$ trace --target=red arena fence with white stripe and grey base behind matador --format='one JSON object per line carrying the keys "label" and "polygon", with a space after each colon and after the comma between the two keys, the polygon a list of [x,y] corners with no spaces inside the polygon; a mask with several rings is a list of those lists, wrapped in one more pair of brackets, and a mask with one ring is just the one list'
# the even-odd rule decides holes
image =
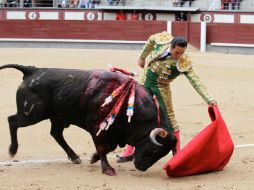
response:
{"label": "red arena fence with white stripe and grey base behind matador", "polygon": [[[102,48],[139,49],[150,35],[168,31],[173,36],[186,37],[202,51],[204,46],[208,51],[223,47],[220,51],[225,53],[232,53],[232,48],[233,53],[250,54],[254,50],[253,24],[206,23],[203,35],[200,22],[0,20],[0,25],[1,46],[27,42],[24,47],[29,43],[44,43],[46,47],[59,47],[64,43],[64,47],[68,47],[72,43],[81,48],[97,48],[100,44]],[[202,36],[205,36],[203,47]]]}

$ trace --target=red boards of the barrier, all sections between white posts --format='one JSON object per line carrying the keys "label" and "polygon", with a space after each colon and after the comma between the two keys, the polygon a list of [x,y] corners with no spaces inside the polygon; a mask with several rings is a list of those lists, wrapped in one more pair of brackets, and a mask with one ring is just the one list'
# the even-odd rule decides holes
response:
{"label": "red boards of the barrier, all sections between white posts", "polygon": [[[145,41],[166,31],[165,21],[0,20],[0,38]],[[173,22],[172,34],[200,46],[200,23]],[[207,44],[254,44],[254,24],[207,24]]]}

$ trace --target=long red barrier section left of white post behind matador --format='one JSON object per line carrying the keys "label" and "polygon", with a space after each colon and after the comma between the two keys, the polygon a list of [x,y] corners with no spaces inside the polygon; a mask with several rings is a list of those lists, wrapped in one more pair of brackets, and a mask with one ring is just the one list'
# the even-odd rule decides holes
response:
{"label": "long red barrier section left of white post behind matador", "polygon": [[0,38],[146,40],[164,21],[0,20]]}

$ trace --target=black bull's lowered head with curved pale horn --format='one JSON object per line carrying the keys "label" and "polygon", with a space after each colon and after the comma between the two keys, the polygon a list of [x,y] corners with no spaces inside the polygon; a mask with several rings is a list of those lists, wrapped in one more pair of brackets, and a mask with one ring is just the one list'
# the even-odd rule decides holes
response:
{"label": "black bull's lowered head with curved pale horn", "polygon": [[156,128],[150,133],[150,138],[135,146],[135,167],[146,171],[155,162],[166,156],[176,145],[174,133]]}

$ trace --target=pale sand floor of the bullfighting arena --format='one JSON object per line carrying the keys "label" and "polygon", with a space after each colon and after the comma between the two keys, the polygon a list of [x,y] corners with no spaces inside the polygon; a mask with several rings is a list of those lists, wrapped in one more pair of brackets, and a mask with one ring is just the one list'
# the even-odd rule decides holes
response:
{"label": "pale sand floor of the bullfighting arena", "polygon": [[[0,65],[23,64],[36,67],[107,69],[113,64],[127,70],[137,66],[139,51],[81,49],[1,49]],[[236,145],[254,144],[254,56],[200,53],[190,50],[195,70],[216,98],[221,114]],[[15,94],[22,74],[14,69],[0,71],[0,189],[1,190],[250,190],[254,187],[254,147],[236,148],[227,167],[216,173],[168,178],[163,165],[167,155],[147,172],[137,171],[133,163],[109,162],[117,176],[101,174],[100,163],[89,164],[94,145],[87,132],[75,126],[64,131],[69,145],[83,162],[74,165],[50,136],[50,123],[43,121],[19,129],[19,150],[9,158],[7,117],[16,113]],[[207,105],[184,76],[172,84],[174,108],[181,125],[182,146],[210,123]]]}

